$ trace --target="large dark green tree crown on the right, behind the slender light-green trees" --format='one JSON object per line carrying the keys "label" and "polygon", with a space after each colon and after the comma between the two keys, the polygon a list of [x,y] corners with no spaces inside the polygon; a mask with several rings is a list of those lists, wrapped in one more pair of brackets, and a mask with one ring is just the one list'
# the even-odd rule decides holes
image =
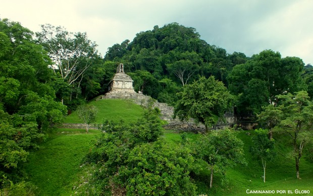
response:
{"label": "large dark green tree crown on the right, behind the slender light-green trees", "polygon": [[303,66],[300,58],[281,58],[279,52],[272,50],[236,65],[227,80],[229,90],[238,96],[238,111],[256,114],[262,107],[277,104],[275,96],[305,89],[300,77]]}

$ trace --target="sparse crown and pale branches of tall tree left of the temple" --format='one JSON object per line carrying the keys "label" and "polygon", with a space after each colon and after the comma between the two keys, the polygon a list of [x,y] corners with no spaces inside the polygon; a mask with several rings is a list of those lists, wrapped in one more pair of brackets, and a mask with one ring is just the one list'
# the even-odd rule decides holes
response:
{"label": "sparse crown and pale branches of tall tree left of the temple", "polygon": [[53,60],[54,72],[59,72],[69,85],[76,81],[80,83],[92,60],[98,57],[97,45],[87,38],[86,33],[74,34],[63,27],[47,24],[41,25],[41,32],[36,36]]}

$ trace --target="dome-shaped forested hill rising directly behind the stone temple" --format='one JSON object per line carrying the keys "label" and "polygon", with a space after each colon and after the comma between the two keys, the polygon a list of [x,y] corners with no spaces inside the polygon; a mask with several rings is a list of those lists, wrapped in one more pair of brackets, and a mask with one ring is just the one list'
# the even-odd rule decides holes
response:
{"label": "dome-shaped forested hill rising directly behind the stone temple", "polygon": [[132,42],[115,44],[105,55],[106,64],[125,64],[136,91],[172,105],[178,100],[176,93],[200,76],[215,76],[227,85],[232,68],[247,59],[240,52],[227,54],[201,40],[194,28],[177,23],[140,32]]}

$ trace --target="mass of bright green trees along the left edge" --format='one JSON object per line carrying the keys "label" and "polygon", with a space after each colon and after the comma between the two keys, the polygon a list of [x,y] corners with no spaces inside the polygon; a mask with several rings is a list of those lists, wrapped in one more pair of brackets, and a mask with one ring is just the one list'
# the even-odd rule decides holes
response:
{"label": "mass of bright green trees along the left edge", "polygon": [[32,36],[21,24],[0,19],[0,189],[8,189],[8,180],[22,183],[29,151],[66,113],[55,101],[51,60]]}

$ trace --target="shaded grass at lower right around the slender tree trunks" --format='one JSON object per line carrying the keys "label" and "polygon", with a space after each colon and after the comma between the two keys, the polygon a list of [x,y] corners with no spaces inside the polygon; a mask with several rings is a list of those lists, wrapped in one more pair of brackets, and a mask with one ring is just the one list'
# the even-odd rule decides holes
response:
{"label": "shaded grass at lower right around the slender tree trunks", "polygon": [[[249,152],[252,145],[251,136],[253,131],[249,131],[250,136],[246,133],[247,131],[240,131],[238,137],[245,144],[244,151],[247,166],[238,165],[235,168],[229,168],[225,177],[216,174],[213,179],[212,189],[208,188],[210,172],[203,167],[201,173],[195,176],[199,194],[247,195],[247,189],[275,190],[275,194],[277,194],[277,190],[285,190],[286,193],[290,190],[295,194],[295,189],[310,190],[310,193],[313,193],[313,164],[303,158],[300,161],[300,177],[302,179],[296,179],[294,159],[289,156],[291,148],[288,145],[286,146],[288,138],[282,135],[274,135],[274,138],[277,138],[278,154],[273,162],[267,163],[266,183],[264,183],[261,177],[263,176],[262,163],[254,160]],[[182,143],[181,134],[174,130],[167,130],[164,135],[165,140],[171,145]],[[201,134],[188,133],[186,136],[189,140],[194,141],[197,137],[201,137]],[[297,195],[309,194],[297,193]]]}

